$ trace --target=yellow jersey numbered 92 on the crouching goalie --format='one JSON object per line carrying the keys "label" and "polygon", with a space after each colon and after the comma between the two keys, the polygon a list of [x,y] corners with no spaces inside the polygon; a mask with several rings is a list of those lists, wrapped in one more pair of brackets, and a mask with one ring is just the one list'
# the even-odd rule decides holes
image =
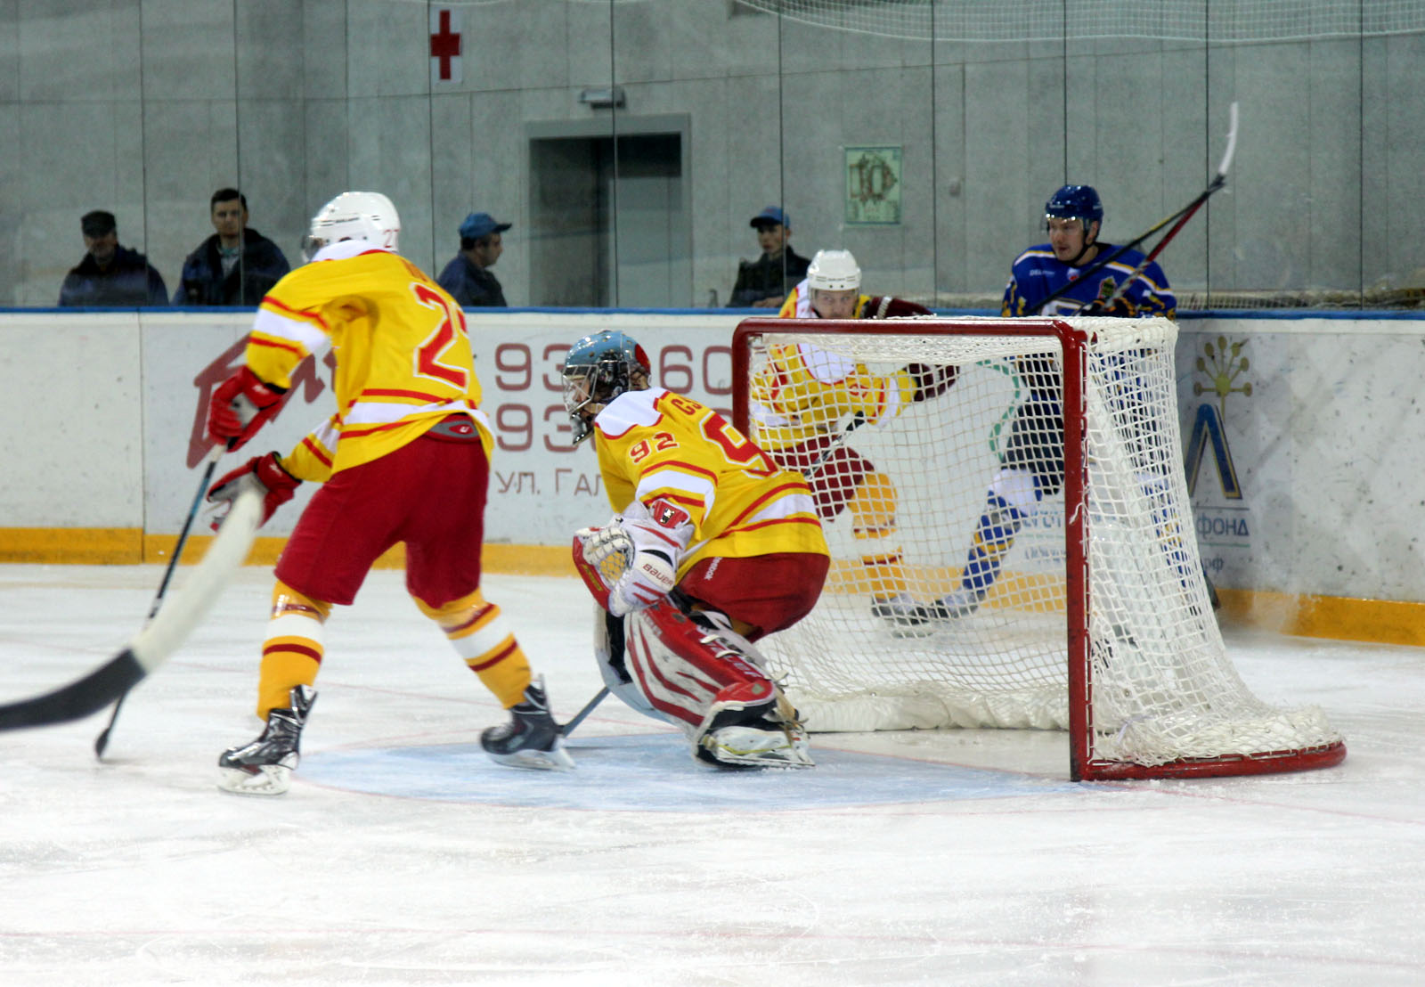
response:
{"label": "yellow jersey numbered 92 on the crouching goalie", "polygon": [[664,498],[688,512],[680,579],[707,558],[829,553],[801,474],[691,398],[664,388],[618,395],[594,419],[594,448],[614,511]]}

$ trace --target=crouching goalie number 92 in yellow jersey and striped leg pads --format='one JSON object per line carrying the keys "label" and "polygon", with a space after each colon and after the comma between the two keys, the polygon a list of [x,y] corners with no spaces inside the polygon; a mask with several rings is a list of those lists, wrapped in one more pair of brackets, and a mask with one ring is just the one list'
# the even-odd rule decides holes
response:
{"label": "crouching goalie number 92 in yellow jersey and striped leg pads", "polygon": [[574,536],[606,615],[596,655],[626,703],[678,725],[718,767],[807,767],[797,710],[752,642],[811,612],[829,566],[807,481],[720,414],[651,387],[623,332],[564,361],[574,442],[594,439],[617,512]]}

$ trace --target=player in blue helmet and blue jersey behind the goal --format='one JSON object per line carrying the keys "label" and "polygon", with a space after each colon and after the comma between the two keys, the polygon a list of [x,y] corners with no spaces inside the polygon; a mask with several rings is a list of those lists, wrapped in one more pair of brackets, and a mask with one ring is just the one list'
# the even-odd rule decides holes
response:
{"label": "player in blue helmet and blue jersey behind the goal", "polygon": [[[1102,260],[1117,250],[1099,242],[1103,203],[1089,185],[1064,185],[1045,204],[1049,242],[1030,247],[1015,258],[1005,287],[1002,315],[1117,315],[1174,318],[1177,300],[1156,262],[1137,271],[1144,255],[1124,251],[1110,264]],[[1100,267],[1094,270],[1094,262]],[[1124,285],[1120,291],[1120,285]],[[1020,361],[1019,374],[1029,394],[1015,412],[1000,468],[989,494],[970,551],[960,571],[960,585],[946,596],[916,608],[902,623],[953,620],[973,613],[999,576],[1000,563],[1025,518],[1042,499],[1063,486],[1063,406],[1059,372],[1045,359]]]}

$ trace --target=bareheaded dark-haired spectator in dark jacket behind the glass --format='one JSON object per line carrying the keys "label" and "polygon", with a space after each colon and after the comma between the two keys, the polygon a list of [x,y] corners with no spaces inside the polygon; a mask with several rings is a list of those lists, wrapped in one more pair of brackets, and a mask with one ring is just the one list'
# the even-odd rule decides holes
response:
{"label": "bareheaded dark-haired spectator in dark jacket behind the glass", "polygon": [[256,305],[291,267],[271,240],[248,225],[248,197],[219,188],[208,201],[215,234],[182,262],[175,305]]}

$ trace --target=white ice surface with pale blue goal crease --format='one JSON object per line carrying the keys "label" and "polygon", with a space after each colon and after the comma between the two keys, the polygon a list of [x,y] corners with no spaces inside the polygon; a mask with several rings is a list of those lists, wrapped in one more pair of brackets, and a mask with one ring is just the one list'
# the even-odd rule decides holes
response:
{"label": "white ice surface with pale blue goal crease", "polygon": [[[160,566],[0,566],[0,702],[138,629]],[[182,578],[180,572],[180,579]],[[328,625],[292,790],[254,737],[271,576],[107,722],[0,735],[0,986],[1425,984],[1425,650],[1228,633],[1342,766],[1073,784],[1060,733],[814,736],[724,774],[607,700],[579,770],[500,767],[503,710],[376,572]],[[560,719],[598,689],[573,579],[493,575]]]}

